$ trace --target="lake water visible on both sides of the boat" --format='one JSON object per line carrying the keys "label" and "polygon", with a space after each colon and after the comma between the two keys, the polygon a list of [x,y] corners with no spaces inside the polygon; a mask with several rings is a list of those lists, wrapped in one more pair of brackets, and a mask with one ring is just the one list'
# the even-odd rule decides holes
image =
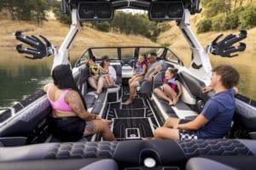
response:
{"label": "lake water visible on both sides of the boat", "polygon": [[[25,59],[15,49],[0,47],[0,107],[13,105],[50,82],[52,60],[53,56],[39,60]],[[216,57],[211,60],[212,65],[234,65],[241,73],[240,94],[256,100],[256,59],[253,56],[228,59],[228,62]]]}

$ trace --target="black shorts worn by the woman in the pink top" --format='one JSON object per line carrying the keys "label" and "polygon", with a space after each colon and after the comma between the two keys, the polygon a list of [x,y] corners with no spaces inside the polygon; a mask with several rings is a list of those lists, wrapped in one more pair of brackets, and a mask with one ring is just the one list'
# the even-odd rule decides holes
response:
{"label": "black shorts worn by the woman in the pink top", "polygon": [[86,122],[79,116],[50,117],[52,134],[61,141],[76,141],[84,136]]}

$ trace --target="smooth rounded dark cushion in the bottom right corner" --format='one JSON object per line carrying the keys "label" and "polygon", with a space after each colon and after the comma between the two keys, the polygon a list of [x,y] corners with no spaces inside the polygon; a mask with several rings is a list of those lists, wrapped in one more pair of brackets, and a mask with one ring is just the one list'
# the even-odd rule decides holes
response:
{"label": "smooth rounded dark cushion in the bottom right corner", "polygon": [[256,166],[256,156],[204,156],[191,158],[186,170],[253,170]]}

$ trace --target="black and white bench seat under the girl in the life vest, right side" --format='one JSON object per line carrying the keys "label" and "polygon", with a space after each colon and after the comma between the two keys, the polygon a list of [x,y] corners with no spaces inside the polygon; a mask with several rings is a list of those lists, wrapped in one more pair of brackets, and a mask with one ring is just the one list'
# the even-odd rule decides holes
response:
{"label": "black and white bench seat under the girl in the life vest, right side", "polygon": [[[162,85],[162,80],[165,76],[164,71],[160,71],[154,77],[153,88],[158,88]],[[160,108],[160,111],[167,117],[177,117],[181,119],[193,120],[198,113],[201,113],[207,99],[214,95],[213,92],[207,94],[202,93],[202,88],[205,87],[205,83],[201,82],[195,77],[189,75],[185,71],[177,73],[177,80],[182,85],[183,95],[177,102],[177,105],[170,106],[162,99],[159,99],[156,95],[153,96],[156,105]]]}

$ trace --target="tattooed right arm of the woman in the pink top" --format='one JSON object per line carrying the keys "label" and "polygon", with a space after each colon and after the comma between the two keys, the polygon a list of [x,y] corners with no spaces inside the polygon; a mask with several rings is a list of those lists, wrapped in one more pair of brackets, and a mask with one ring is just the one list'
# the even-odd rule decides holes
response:
{"label": "tattooed right arm of the woman in the pink top", "polygon": [[85,121],[100,119],[99,116],[93,115],[84,109],[83,102],[79,96],[79,93],[76,91],[69,91],[65,96],[65,101],[73,109],[73,112],[81,119],[84,119]]}

